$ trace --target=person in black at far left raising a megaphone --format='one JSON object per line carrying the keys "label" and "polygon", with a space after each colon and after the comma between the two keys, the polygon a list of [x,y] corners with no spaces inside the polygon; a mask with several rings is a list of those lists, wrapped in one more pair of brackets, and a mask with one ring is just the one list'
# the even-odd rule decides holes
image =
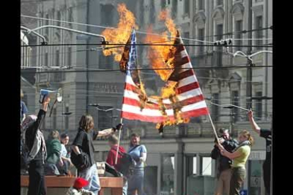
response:
{"label": "person in black at far left raising a megaphone", "polygon": [[28,195],[47,194],[44,177],[44,162],[47,151],[44,136],[42,131],[40,131],[40,125],[45,119],[49,102],[50,98],[45,98],[42,103],[42,108],[38,113],[38,117],[35,115],[29,115],[23,121],[23,126],[25,126],[25,147],[27,147],[29,151],[27,159],[29,166]]}

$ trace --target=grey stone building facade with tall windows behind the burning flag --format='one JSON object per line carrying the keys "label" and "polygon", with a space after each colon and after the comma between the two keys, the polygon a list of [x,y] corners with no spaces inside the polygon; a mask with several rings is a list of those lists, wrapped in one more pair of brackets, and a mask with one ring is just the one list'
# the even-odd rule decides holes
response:
{"label": "grey stone building facade with tall windows behind the burning flag", "polygon": [[[121,1],[41,1],[38,4],[38,17],[50,20],[38,20],[41,25],[59,25],[65,28],[100,33],[103,28],[77,25],[84,23],[100,26],[115,26],[119,16],[116,11]],[[248,1],[200,1],[200,0],[165,0],[165,1],[124,1],[127,8],[134,13],[139,31],[146,31],[153,25],[154,31],[165,30],[164,25],[156,19],[163,8],[171,11],[171,17],[180,29],[185,44],[200,45],[188,39],[215,42],[232,39],[232,45],[267,45],[272,40],[272,30],[260,30],[272,25],[272,1],[251,1],[252,25],[256,29],[252,33],[254,40],[247,40],[249,30]],[[73,23],[62,23],[64,20]],[[96,37],[79,35],[66,30],[43,28],[39,31],[47,37],[50,44],[96,44]],[[237,32],[237,33],[236,33]],[[239,33],[238,33],[239,32]],[[138,33],[139,34],[139,33]],[[138,35],[142,36],[142,35]],[[40,40],[38,40],[40,42]],[[98,47],[98,46],[97,46]],[[67,67],[36,73],[36,98],[40,88],[63,88],[64,101],[53,110],[52,117],[47,117],[44,129],[66,131],[71,139],[76,134],[81,114],[90,113],[95,119],[96,128],[105,129],[120,122],[120,112],[113,110],[104,112],[88,107],[98,103],[105,109],[119,109],[122,103],[124,75],[119,71],[113,57],[104,57],[102,50],[93,45],[66,45],[54,47],[38,47],[37,66]],[[139,47],[139,64],[149,67],[147,48]],[[270,128],[272,116],[272,54],[259,54],[253,57],[252,78],[248,76],[247,59],[232,57],[225,47],[187,47],[193,66],[214,66],[215,69],[195,69],[202,91],[210,102],[216,104],[233,104],[240,107],[251,105],[255,111],[258,124]],[[265,47],[230,47],[229,52],[242,51],[255,53],[260,50],[272,49]],[[234,68],[226,69],[225,67]],[[239,66],[239,67],[237,67]],[[222,67],[222,68],[221,68]],[[159,93],[162,85],[151,71],[142,72],[147,91]],[[252,88],[252,99],[248,95],[248,85]],[[226,127],[237,136],[242,129],[251,129],[246,119],[246,112],[230,110],[209,104],[209,110],[216,128]],[[38,108],[36,108],[38,110]],[[72,112],[62,115],[62,112]],[[206,117],[192,119],[189,124],[167,126],[163,137],[159,136],[155,124],[137,121],[123,122],[122,146],[128,147],[130,134],[136,132],[142,136],[142,143],[148,150],[146,160],[145,186],[148,194],[213,194],[215,182],[215,162],[210,158],[214,136],[212,126]],[[253,133],[255,146],[248,162],[248,177],[243,189],[251,195],[264,194],[261,164],[265,158],[265,141]],[[104,161],[109,150],[106,141],[95,141],[96,160]],[[156,179],[154,179],[156,178]]]}

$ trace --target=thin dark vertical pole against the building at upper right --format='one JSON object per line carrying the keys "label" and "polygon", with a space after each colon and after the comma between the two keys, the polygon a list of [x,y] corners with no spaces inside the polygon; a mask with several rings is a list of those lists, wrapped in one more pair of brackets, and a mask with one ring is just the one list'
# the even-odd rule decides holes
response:
{"label": "thin dark vertical pole against the building at upper right", "polygon": [[[252,0],[248,1],[248,45],[252,45]],[[251,47],[248,47],[247,55],[251,55]],[[246,72],[246,108],[252,107],[252,66],[251,59],[247,59]],[[247,119],[247,118],[246,118]]]}

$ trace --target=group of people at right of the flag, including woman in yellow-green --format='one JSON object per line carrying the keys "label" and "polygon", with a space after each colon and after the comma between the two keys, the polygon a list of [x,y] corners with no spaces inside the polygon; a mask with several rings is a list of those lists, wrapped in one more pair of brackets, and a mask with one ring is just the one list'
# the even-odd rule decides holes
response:
{"label": "group of people at right of the flag, including woman in yellow-green", "polygon": [[[272,131],[261,129],[253,119],[253,112],[248,112],[248,119],[252,129],[265,138],[266,157],[263,163],[263,181],[265,195],[270,195],[270,161],[272,148]],[[240,195],[246,178],[246,162],[251,153],[254,140],[249,131],[240,132],[238,141],[231,138],[228,129],[220,129],[221,137],[215,141],[211,157],[217,160],[217,188],[215,195]]]}

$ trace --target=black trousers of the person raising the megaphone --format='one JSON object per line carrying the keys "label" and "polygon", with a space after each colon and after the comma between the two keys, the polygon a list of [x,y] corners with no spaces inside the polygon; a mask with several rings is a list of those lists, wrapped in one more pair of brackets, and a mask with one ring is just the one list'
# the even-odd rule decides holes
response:
{"label": "black trousers of the person raising the megaphone", "polygon": [[28,168],[28,195],[46,195],[44,165],[42,160],[33,160]]}

